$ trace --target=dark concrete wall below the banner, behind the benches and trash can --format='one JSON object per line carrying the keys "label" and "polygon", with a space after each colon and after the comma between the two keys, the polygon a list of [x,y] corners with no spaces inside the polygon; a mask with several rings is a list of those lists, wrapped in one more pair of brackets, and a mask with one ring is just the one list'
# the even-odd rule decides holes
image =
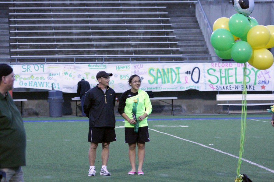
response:
{"label": "dark concrete wall below the banner, behind the benches and trash can", "polygon": [[[225,94],[228,92],[219,92]],[[229,92],[229,94],[241,94],[240,91]],[[271,91],[256,91],[248,93],[272,93]],[[176,96],[177,100],[174,100],[174,115],[206,115],[206,114],[226,114],[227,106],[217,106],[216,101],[217,91],[202,92],[194,89],[177,92],[153,92],[155,97],[170,97]],[[62,109],[63,116],[76,116],[76,103],[72,101],[72,97],[76,97],[76,93],[63,93],[64,103]],[[118,98],[121,93],[117,93]],[[48,91],[43,92],[14,92],[14,99],[28,99],[23,102],[23,115],[24,117],[48,117],[49,116],[49,104],[47,103]],[[171,103],[171,100],[165,100]],[[78,104],[80,102],[78,101]],[[152,100],[153,106],[152,115],[171,115],[171,106],[169,104]],[[118,103],[115,104],[115,115],[120,116],[118,113]],[[248,111],[266,111],[269,106],[248,106]],[[230,106],[230,111],[241,111],[241,106]],[[78,115],[81,115],[81,105],[77,106]],[[267,113],[267,112],[266,112]]]}

